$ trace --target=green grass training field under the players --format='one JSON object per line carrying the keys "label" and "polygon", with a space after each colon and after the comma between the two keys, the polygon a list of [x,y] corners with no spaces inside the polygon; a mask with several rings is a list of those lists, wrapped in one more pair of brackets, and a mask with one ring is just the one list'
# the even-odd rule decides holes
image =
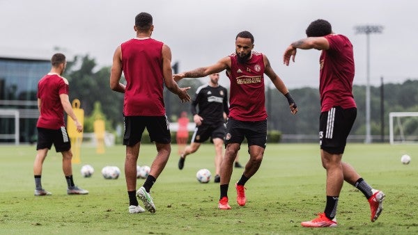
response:
{"label": "green grass training field under the players", "polygon": [[[247,147],[240,151],[240,162],[248,159]],[[116,165],[123,172],[125,148],[106,149],[96,154],[93,147],[82,147],[82,163],[73,165],[75,184],[88,195],[66,195],[61,170],[61,154],[49,152],[44,163],[42,186],[53,193],[33,196],[35,146],[0,147],[0,231],[1,234],[418,234],[418,145],[348,144],[343,160],[373,187],[385,192],[384,210],[370,222],[369,203],[353,186],[341,191],[336,228],[311,229],[300,226],[325,206],[325,170],[320,164],[318,145],[268,145],[263,164],[246,184],[247,205],[235,202],[233,183],[242,174],[234,169],[229,190],[232,209],[217,209],[219,184],[199,184],[200,168],[212,173],[214,150],[202,145],[187,157],[178,170],[173,145],[171,158],[151,192],[157,212],[131,215],[125,177],[103,179],[100,171]],[[409,154],[409,165],[401,155]],[[150,165],[154,145],[143,145],[139,165]],[[91,164],[95,173],[83,178],[80,168]],[[138,187],[144,179],[138,180]],[[141,204],[141,202],[140,202]]]}

